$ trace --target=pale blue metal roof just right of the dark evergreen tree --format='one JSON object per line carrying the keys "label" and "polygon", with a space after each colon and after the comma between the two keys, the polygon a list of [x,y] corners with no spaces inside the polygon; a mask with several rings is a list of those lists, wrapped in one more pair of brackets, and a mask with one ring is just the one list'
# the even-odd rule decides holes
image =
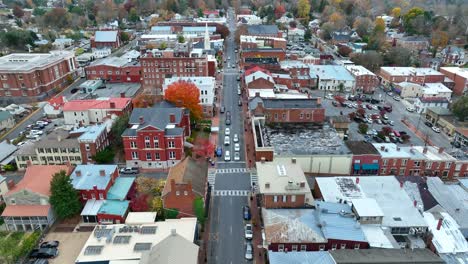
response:
{"label": "pale blue metal roof just right of the dark evergreen tree", "polygon": [[73,188],[76,190],[105,190],[117,171],[117,165],[78,165],[70,175]]}

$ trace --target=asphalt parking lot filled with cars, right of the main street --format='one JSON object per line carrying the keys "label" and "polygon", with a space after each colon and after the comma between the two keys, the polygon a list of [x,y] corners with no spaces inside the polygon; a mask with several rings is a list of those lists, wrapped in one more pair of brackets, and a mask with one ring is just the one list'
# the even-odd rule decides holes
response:
{"label": "asphalt parking lot filled with cars, right of the main street", "polygon": [[[327,94],[331,92],[329,91],[313,91],[314,96],[320,96],[320,97],[325,97]],[[345,94],[341,94],[340,96],[345,97]],[[452,146],[450,145],[450,139],[443,133],[436,133],[434,132],[430,127],[426,126],[425,123],[425,118],[424,114],[419,114],[416,112],[408,112],[406,110],[407,106],[405,105],[405,101],[396,101],[394,100],[391,96],[388,96],[383,90],[378,89],[374,95],[371,96],[374,99],[381,100],[381,103],[375,104],[375,105],[380,105],[384,106],[387,104],[392,105],[392,112],[387,112],[386,115],[388,117],[389,121],[393,121],[393,126],[390,126],[393,130],[395,131],[403,131],[406,132],[407,135],[410,136],[409,141],[404,142],[404,143],[398,143],[402,145],[424,145],[425,141],[427,142],[432,142],[435,146],[438,147],[444,147],[446,149],[451,148]],[[327,116],[337,116],[337,115],[348,115],[351,112],[356,112],[356,108],[349,108],[349,107],[342,107],[342,106],[334,106],[332,105],[332,102],[335,100],[331,99],[324,99],[323,100],[323,105],[326,109],[326,115]],[[349,102],[349,101],[347,101]],[[350,102],[350,103],[357,103],[357,102]],[[363,102],[362,105],[364,107],[365,113],[366,114],[376,114],[380,115],[380,110],[369,110],[366,108],[366,105],[370,104],[368,102]],[[382,118],[380,118],[383,120]],[[417,128],[420,133],[418,133],[420,136],[417,136],[413,131],[411,131],[401,120],[406,119],[408,120],[409,124],[412,124],[414,127]],[[368,130],[373,130],[375,129],[377,132],[382,130],[383,127],[389,126],[386,124],[378,124],[376,122],[373,122],[372,124],[367,123],[369,129]],[[348,139],[349,140],[365,140],[365,135],[359,133],[358,131],[358,126],[359,123],[352,121],[350,126],[349,126],[349,132],[348,132]],[[421,135],[424,135],[421,137]],[[368,137],[369,138],[369,137]],[[372,136],[370,137],[370,142],[375,143],[376,141],[372,139]]]}

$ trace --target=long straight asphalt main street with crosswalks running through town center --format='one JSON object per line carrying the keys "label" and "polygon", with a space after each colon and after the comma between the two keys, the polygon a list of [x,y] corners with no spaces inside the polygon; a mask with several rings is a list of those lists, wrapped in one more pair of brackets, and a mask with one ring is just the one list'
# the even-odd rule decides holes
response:
{"label": "long straight asphalt main street with crosswalks running through town center", "polygon": [[[240,96],[237,95],[237,54],[235,53],[235,28],[234,11],[229,10],[229,28],[231,35],[226,41],[225,58],[230,58],[224,69],[223,81],[223,105],[226,112],[231,113],[231,144],[223,146],[223,151],[229,150],[231,159],[234,157],[234,134],[239,136],[241,146],[240,161],[221,161],[216,165],[216,176],[213,198],[210,209],[210,239],[208,241],[208,263],[239,264],[250,263],[244,258],[244,220],[242,207],[248,203],[250,187],[250,174],[246,170],[244,155],[244,124],[241,117],[241,107],[238,106]],[[236,65],[233,69],[232,65]],[[243,102],[246,103],[246,102]],[[219,142],[224,142],[226,128],[226,113],[220,118]],[[224,158],[224,156],[223,156]],[[223,159],[224,160],[224,159]]]}

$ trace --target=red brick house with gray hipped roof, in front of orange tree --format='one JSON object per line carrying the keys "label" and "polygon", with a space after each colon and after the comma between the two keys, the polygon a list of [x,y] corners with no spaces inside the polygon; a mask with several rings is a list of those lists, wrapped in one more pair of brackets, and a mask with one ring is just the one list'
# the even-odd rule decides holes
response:
{"label": "red brick house with gray hipped roof, in front of orange tree", "polygon": [[185,137],[191,134],[188,110],[166,101],[135,108],[129,126],[122,134],[127,166],[168,168],[185,157]]}

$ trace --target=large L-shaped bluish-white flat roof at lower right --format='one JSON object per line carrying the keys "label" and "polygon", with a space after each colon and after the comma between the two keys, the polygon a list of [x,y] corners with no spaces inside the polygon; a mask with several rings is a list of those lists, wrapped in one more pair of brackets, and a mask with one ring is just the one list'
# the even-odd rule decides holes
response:
{"label": "large L-shaped bluish-white flat roof at lower right", "polygon": [[[359,183],[356,179],[359,178]],[[394,176],[317,177],[324,201],[373,198],[384,213],[382,225],[389,227],[427,227],[406,191]]]}

